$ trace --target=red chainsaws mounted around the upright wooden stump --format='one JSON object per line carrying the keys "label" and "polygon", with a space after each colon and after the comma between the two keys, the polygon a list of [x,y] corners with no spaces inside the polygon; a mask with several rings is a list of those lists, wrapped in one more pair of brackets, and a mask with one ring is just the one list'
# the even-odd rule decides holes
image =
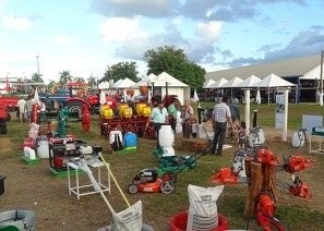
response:
{"label": "red chainsaws mounted around the upright wooden stump", "polygon": [[[267,148],[257,149],[255,151],[254,160],[267,166],[273,166],[277,171],[284,170],[292,174],[292,184],[277,180],[278,186],[288,190],[292,195],[301,198],[310,198],[312,196],[309,187],[298,177],[295,177],[293,173],[313,166],[313,160],[301,156],[289,156],[288,158],[284,158],[284,165],[279,166],[278,158]],[[241,161],[244,163],[244,158]],[[242,170],[244,170],[244,168]],[[221,168],[218,172],[211,177],[211,181],[216,184],[238,184],[250,182],[250,178],[241,175],[245,174],[240,174],[240,172],[233,171],[233,168]],[[256,221],[265,231],[272,231],[273,228],[279,231],[286,230],[279,220],[274,217],[276,205],[275,197],[271,193],[262,191],[261,195],[255,199],[255,210]],[[249,230],[249,223],[250,221],[247,224],[247,230]]]}

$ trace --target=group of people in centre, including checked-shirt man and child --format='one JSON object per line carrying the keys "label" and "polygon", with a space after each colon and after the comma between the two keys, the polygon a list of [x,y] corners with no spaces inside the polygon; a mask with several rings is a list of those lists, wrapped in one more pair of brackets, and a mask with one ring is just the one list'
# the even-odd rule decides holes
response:
{"label": "group of people in centre, including checked-shirt man and child", "polygon": [[[240,124],[233,123],[239,119],[239,113],[237,110],[230,110],[227,105],[228,97],[223,96],[221,102],[217,104],[213,110],[213,129],[214,137],[212,143],[212,155],[221,156],[223,147],[225,144],[225,137],[228,125],[232,127],[233,132],[238,135],[239,148],[243,149],[245,145],[245,123]],[[196,137],[197,123],[194,118],[194,110],[190,104],[190,100],[185,100],[184,107],[182,109],[179,99],[173,98],[172,104],[165,108],[161,100],[157,101],[157,106],[152,110],[151,120],[154,123],[155,131],[157,133],[157,148],[159,148],[158,143],[158,131],[161,125],[170,124],[176,133],[178,112],[181,112],[181,124],[183,138]],[[232,111],[232,112],[231,112]],[[148,127],[151,120],[147,121],[146,127]]]}

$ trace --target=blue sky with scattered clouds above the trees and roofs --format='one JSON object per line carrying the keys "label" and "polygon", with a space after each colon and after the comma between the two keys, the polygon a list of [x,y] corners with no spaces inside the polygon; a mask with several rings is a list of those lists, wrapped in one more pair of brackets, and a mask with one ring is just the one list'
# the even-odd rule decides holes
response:
{"label": "blue sky with scattered clouds above the trees and roofs", "polygon": [[320,53],[323,0],[0,0],[0,77],[103,76],[175,45],[206,71]]}

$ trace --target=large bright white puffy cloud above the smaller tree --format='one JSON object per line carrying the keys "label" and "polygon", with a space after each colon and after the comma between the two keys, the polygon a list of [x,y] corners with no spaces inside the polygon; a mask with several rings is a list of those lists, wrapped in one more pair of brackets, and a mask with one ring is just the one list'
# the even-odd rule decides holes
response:
{"label": "large bright white puffy cloud above the smaller tree", "polygon": [[139,19],[111,17],[100,26],[100,33],[106,41],[128,41],[132,38],[147,37],[140,29]]}

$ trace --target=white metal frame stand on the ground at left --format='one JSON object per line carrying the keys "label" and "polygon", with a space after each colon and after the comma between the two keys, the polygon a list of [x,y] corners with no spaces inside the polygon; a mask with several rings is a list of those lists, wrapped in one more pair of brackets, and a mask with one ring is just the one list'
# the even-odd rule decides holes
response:
{"label": "white metal frame stand on the ground at left", "polygon": [[[97,160],[97,161],[93,161],[93,162],[89,162],[87,165],[88,167],[91,167],[93,170],[94,169],[97,169],[97,182],[98,182],[98,185],[101,187],[101,191],[103,192],[109,192],[110,194],[110,174],[109,174],[109,171],[107,173],[107,184],[104,184],[101,182],[101,167],[105,167],[105,163]],[[107,166],[109,168],[109,163]],[[72,186],[71,184],[71,174],[70,174],[70,171],[74,171],[75,170],[75,186]],[[79,171],[82,171],[79,167],[77,163],[75,162],[69,162],[68,163],[68,183],[69,183],[69,194],[71,195],[72,193],[75,194],[77,196],[77,199],[80,199],[81,196],[85,196],[85,195],[89,195],[89,194],[95,194],[95,193],[99,193],[98,191],[95,191],[94,189],[94,185],[91,183],[91,184],[84,184],[84,185],[81,185],[80,184],[80,179],[79,179]],[[94,175],[95,178],[95,175]],[[87,190],[85,190],[87,189]],[[81,191],[86,191],[86,192],[81,192]]]}

